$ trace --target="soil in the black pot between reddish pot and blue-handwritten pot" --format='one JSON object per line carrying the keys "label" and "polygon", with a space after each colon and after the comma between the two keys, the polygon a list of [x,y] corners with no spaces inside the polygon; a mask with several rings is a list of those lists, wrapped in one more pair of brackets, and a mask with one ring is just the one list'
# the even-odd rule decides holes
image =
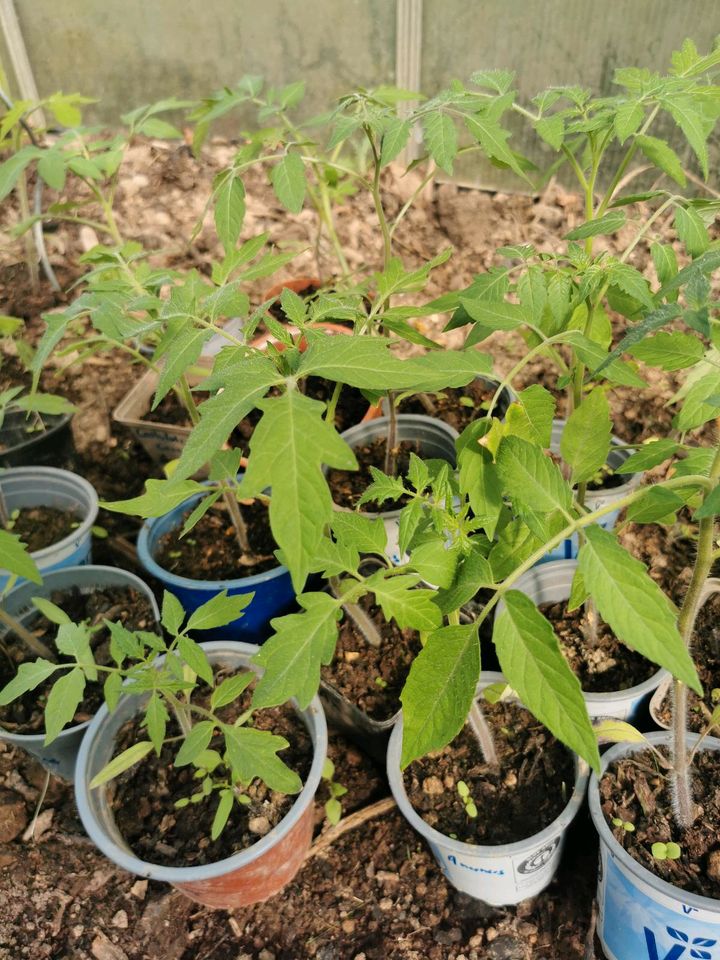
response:
{"label": "soil in the black pot between reddish pot and blue-handwritten pot", "polygon": [[360,605],[382,636],[382,645],[368,643],[346,614],[335,656],[322,668],[322,677],[371,719],[389,720],[400,709],[400,693],[422,649],[420,638],[417,631],[401,630],[393,621],[385,620],[380,608],[368,598],[363,597]]}

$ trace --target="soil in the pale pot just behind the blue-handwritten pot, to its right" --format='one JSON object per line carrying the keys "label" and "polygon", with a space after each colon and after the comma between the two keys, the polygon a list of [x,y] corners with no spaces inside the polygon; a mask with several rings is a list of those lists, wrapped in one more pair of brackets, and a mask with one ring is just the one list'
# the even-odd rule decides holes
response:
{"label": "soil in the pale pot just behind the blue-handwritten pot, to its right", "polygon": [[565,658],[586,693],[628,690],[657,673],[655,664],[621,643],[601,619],[593,648],[583,633],[587,625],[584,607],[568,613],[567,601],[562,600],[541,603],[538,609],[555,628]]}

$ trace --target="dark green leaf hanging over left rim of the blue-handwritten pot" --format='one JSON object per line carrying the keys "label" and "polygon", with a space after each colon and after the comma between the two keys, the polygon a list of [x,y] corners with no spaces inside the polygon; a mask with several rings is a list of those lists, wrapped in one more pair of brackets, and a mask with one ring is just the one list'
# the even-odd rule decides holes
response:
{"label": "dark green leaf hanging over left rim of the blue-handwritten pot", "polygon": [[401,767],[439,750],[462,729],[480,675],[477,628],[441,627],[425,641],[400,696],[403,705]]}

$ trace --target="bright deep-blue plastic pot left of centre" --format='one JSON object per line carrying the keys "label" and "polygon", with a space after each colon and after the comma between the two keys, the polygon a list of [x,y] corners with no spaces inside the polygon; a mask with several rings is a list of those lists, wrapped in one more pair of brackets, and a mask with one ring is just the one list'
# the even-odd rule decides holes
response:
{"label": "bright deep-blue plastic pot left of centre", "polygon": [[198,503],[201,496],[202,494],[198,494],[191,497],[162,517],[145,523],[138,535],[138,559],[149,574],[175,594],[187,613],[192,613],[222,590],[227,590],[232,596],[239,593],[254,594],[242,617],[217,630],[203,631],[202,639],[262,643],[267,638],[270,620],[285,613],[295,600],[295,591],[287,567],[278,566],[254,577],[238,577],[236,580],[192,580],[190,577],[179,577],[170,573],[155,560],[160,539],[166,533],[182,526],[184,515]]}

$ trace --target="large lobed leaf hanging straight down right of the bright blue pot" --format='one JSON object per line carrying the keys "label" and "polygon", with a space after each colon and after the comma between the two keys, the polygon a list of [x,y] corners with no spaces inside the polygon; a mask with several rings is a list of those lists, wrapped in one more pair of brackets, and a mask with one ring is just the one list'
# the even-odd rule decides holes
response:
{"label": "large lobed leaf hanging straight down right of the bright blue pot", "polygon": [[264,415],[250,441],[251,455],[241,489],[244,496],[257,496],[272,488],[270,527],[295,589],[301,590],[333,514],[322,466],[353,470],[357,461],[350,447],[323,420],[325,405],[318,400],[290,390],[258,405]]}

